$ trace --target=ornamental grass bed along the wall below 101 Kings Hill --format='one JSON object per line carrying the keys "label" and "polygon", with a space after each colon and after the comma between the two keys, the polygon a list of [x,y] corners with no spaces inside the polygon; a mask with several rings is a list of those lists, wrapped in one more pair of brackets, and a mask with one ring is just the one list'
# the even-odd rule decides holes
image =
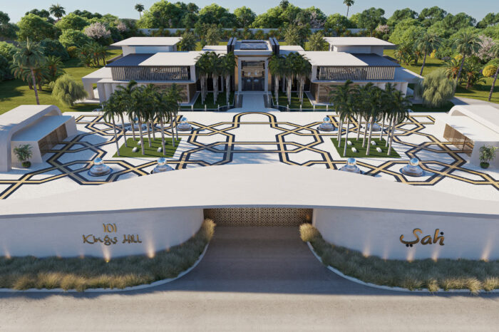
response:
{"label": "ornamental grass bed along the wall below 101 Kings Hill", "polygon": [[215,223],[205,219],[199,231],[186,242],[168,250],[124,256],[106,263],[102,258],[0,257],[0,288],[8,289],[124,289],[175,278],[192,266],[215,232]]}

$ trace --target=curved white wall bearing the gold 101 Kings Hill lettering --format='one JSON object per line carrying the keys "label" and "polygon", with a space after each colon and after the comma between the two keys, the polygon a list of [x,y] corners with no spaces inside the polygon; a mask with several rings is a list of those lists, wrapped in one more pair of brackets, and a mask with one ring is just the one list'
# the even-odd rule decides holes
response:
{"label": "curved white wall bearing the gold 101 Kings Hill lettering", "polygon": [[[202,209],[157,209],[0,218],[0,256],[99,256],[153,254],[187,241],[200,228]],[[116,232],[104,232],[115,224]],[[109,227],[113,230],[113,227]],[[142,243],[122,243],[133,235]],[[93,236],[116,237],[116,244],[93,242]],[[83,236],[88,241],[83,243]]]}

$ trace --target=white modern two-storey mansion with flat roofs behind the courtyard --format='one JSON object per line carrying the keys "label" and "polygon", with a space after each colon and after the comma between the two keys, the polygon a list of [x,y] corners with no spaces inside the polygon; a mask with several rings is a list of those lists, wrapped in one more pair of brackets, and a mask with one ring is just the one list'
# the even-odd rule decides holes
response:
{"label": "white modern two-storey mansion with flat roofs behind the courtyard", "polygon": [[[179,37],[133,37],[114,43],[120,46],[123,56],[83,77],[89,99],[103,102],[118,85],[129,81],[139,84],[153,83],[167,88],[176,83],[183,90],[183,103],[194,103],[200,90],[195,65],[201,53],[219,54],[234,52],[236,67],[232,89],[236,93],[272,91],[274,80],[269,73],[269,58],[273,54],[287,55],[297,52],[312,64],[312,73],[305,90],[312,103],[327,103],[329,90],[347,80],[358,85],[374,83],[384,88],[392,83],[396,89],[407,93],[409,83],[417,83],[421,76],[406,70],[386,58],[385,48],[395,45],[372,37],[325,38],[329,51],[304,51],[301,46],[280,46],[276,38],[243,40],[230,38],[227,46],[205,46],[202,51],[177,51]],[[219,80],[223,90],[222,80]],[[97,93],[94,92],[96,85]],[[210,90],[212,82],[208,82]],[[284,85],[283,85],[284,86]],[[294,87],[297,86],[293,83]]]}

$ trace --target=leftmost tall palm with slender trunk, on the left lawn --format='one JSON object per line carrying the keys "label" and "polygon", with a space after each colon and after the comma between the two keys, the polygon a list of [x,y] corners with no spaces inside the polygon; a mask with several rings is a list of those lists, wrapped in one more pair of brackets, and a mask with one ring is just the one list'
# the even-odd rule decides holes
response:
{"label": "leftmost tall palm with slender trunk, on the left lawn", "polygon": [[12,62],[15,66],[23,70],[29,70],[31,73],[31,81],[33,88],[35,90],[36,104],[40,105],[40,100],[38,100],[38,90],[36,89],[36,78],[34,70],[36,68],[41,68],[46,62],[45,56],[43,56],[43,48],[39,43],[30,41],[29,38],[26,42],[19,45],[16,53],[12,57]]}

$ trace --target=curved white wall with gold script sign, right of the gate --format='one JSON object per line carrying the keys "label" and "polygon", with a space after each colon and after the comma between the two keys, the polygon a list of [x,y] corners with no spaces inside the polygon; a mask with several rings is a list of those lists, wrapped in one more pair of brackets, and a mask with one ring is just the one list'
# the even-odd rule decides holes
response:
{"label": "curved white wall with gold script sign, right of the gate", "polygon": [[[313,224],[327,242],[384,259],[499,259],[499,218],[417,212],[374,212],[356,209],[314,209]],[[443,232],[440,244],[413,244],[413,229],[422,239],[436,229]]]}

